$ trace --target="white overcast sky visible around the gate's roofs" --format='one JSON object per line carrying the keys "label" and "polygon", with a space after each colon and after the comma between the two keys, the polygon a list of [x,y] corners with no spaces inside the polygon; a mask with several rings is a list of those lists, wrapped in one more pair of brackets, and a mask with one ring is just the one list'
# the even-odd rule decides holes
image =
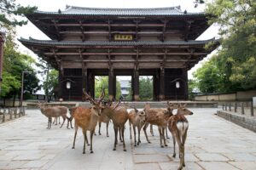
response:
{"label": "white overcast sky visible around the gate's roofs", "polygon": [[[66,5],[91,8],[162,8],[180,5],[181,10],[186,9],[188,12],[202,12],[204,5],[194,8],[195,4],[193,2],[194,0],[16,0],[16,3],[20,3],[22,6],[37,6],[38,10],[55,12],[57,12],[58,9],[65,10]],[[218,28],[211,26],[198,40],[217,37],[217,32]],[[17,27],[17,38],[20,37],[33,37],[41,40],[49,39],[49,37],[45,36],[42,31],[39,31],[36,26],[33,26],[31,22],[28,22],[26,26]],[[37,58],[37,55],[33,54],[32,51],[24,47],[20,42],[19,46],[22,53],[30,54]],[[209,56],[207,59],[208,58]],[[192,77],[192,72],[201,65],[201,62],[189,71],[189,78]]]}

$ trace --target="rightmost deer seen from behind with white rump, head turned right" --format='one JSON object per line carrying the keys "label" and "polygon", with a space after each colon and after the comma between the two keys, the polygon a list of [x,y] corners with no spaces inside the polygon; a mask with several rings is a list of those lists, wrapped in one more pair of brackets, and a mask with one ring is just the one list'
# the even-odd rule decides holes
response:
{"label": "rightmost deer seen from behind with white rump, head turned right", "polygon": [[185,167],[184,144],[186,142],[187,132],[189,129],[189,122],[185,117],[187,115],[193,115],[193,112],[186,109],[185,105],[178,105],[177,114],[171,116],[168,120],[168,129],[172,133],[172,139],[173,139],[172,157],[176,156],[176,151],[175,151],[176,141],[178,144],[179,158],[180,158],[179,167],[177,168],[178,170],[181,170],[183,169],[183,167]]}

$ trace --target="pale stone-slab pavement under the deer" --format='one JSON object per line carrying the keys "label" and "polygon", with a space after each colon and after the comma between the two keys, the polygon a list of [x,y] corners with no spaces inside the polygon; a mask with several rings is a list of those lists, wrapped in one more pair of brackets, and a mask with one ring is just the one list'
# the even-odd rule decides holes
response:
{"label": "pale stone-slab pavement under the deer", "polygon": [[[256,169],[256,133],[215,116],[216,109],[192,111],[195,114],[187,116],[189,132],[184,169]],[[156,127],[154,137],[148,129],[152,144],[146,143],[142,133],[142,144],[134,147],[127,124],[127,152],[124,152],[121,143],[116,151],[112,150],[112,123],[109,138],[103,124],[102,135],[96,135],[93,140],[95,153],[90,154],[89,147],[86,147],[83,155],[81,130],[76,148],[72,150],[73,129],[60,128],[60,125],[46,129],[47,119],[38,110],[26,113],[27,116],[0,125],[0,169],[167,170],[178,167],[179,159],[172,158],[172,140],[169,139],[168,147],[160,148]]]}

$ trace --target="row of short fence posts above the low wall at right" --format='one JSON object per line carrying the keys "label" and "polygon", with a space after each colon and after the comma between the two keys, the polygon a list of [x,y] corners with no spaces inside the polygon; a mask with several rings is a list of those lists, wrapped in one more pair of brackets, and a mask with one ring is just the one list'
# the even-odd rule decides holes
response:
{"label": "row of short fence posts above the low wall at right", "polygon": [[254,116],[253,102],[227,102],[222,104],[223,111],[233,111],[241,115]]}

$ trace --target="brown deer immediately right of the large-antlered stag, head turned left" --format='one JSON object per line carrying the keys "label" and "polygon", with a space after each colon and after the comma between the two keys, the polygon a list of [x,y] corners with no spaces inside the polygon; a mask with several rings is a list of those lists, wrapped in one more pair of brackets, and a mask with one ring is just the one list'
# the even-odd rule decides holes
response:
{"label": "brown deer immediately right of the large-antlered stag, head turned left", "polygon": [[[120,103],[120,101],[119,101]],[[114,130],[114,144],[113,144],[113,150],[116,150],[116,144],[118,143],[118,130],[120,131],[120,136],[122,136],[123,139],[123,150],[125,149],[125,139],[124,139],[124,133],[125,133],[125,122],[128,119],[128,112],[125,107],[119,106],[119,103],[115,106],[104,106],[102,109],[102,115],[108,116],[113,122],[113,130]]]}

